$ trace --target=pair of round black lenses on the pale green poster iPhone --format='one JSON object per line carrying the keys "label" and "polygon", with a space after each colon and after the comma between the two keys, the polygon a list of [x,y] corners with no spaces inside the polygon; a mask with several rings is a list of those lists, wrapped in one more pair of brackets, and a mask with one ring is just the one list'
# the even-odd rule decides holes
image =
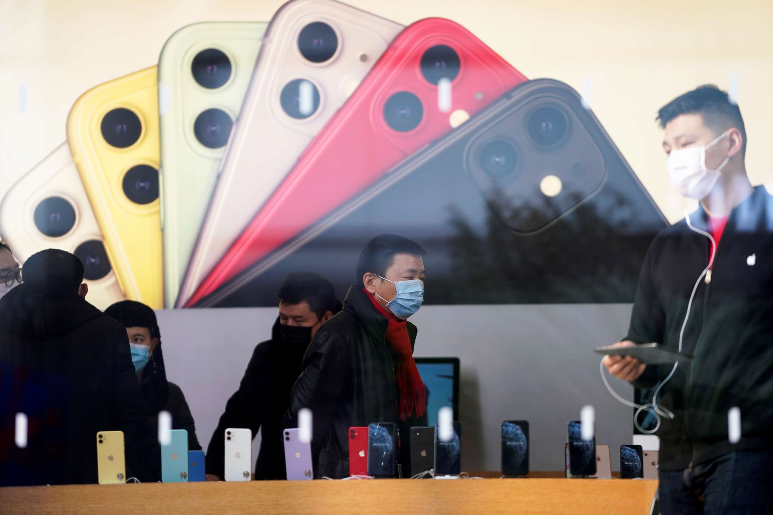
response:
{"label": "pair of round black lenses on the pale green poster iPhone", "polygon": [[[191,74],[196,83],[207,90],[216,90],[228,83],[233,74],[230,59],[218,49],[197,53],[191,63]],[[207,148],[222,148],[228,143],[233,120],[224,110],[216,107],[203,110],[193,122],[196,140]]]}

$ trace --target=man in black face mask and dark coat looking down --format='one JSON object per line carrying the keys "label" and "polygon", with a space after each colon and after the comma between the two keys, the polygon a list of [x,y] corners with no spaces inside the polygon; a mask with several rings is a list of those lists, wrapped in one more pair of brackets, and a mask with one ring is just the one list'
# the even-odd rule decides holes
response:
{"label": "man in black face mask and dark coat looking down", "polygon": [[338,310],[333,285],[312,272],[284,277],[279,290],[279,317],[271,340],[257,344],[239,389],[226,403],[206,451],[206,479],[223,479],[226,428],[249,428],[253,438],[261,430],[261,449],[255,479],[286,479],[284,450],[278,435],[281,418],[290,405],[290,388],[301,373],[309,342]]}

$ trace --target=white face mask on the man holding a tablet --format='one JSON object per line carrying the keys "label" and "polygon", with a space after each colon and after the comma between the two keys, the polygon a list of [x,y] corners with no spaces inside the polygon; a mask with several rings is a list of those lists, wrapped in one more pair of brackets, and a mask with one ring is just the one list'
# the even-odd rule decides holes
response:
{"label": "white face mask on the man holding a tablet", "polygon": [[716,170],[709,170],[706,167],[706,151],[717,141],[727,136],[727,131],[717,137],[710,144],[702,147],[679,148],[671,151],[666,158],[666,171],[669,173],[669,180],[676,191],[679,191],[685,197],[700,200],[709,195],[711,188],[717,184],[720,178],[720,172],[724,168],[730,156],[720,164]]}

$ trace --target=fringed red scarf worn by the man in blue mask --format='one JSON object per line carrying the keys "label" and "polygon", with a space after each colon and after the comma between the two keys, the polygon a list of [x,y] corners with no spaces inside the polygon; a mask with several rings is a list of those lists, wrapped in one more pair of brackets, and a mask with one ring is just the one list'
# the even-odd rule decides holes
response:
{"label": "fringed red scarf worn by the man in blue mask", "polygon": [[400,416],[400,420],[405,420],[415,411],[416,416],[420,417],[424,415],[427,400],[424,397],[424,382],[421,381],[419,369],[414,361],[414,350],[410,347],[407,320],[397,320],[393,313],[376,302],[368,290],[363,288],[363,291],[373,303],[373,307],[386,317],[386,320],[389,320],[384,341],[392,354],[397,357],[397,366],[394,368],[397,383],[397,415]]}

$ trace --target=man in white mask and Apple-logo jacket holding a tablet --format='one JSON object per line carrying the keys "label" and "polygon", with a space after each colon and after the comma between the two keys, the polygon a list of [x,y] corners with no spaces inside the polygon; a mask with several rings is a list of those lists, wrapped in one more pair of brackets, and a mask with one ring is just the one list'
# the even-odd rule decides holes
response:
{"label": "man in white mask and Apple-logo jacket holding a tablet", "polygon": [[[656,433],[663,515],[768,513],[773,197],[747,178],[744,120],[727,93],[702,86],[662,107],[658,120],[671,184],[700,204],[653,240],[618,345],[658,342],[693,361],[674,368],[608,356],[604,365],[637,388],[662,384],[659,412],[673,412]],[[734,407],[740,439],[728,422]]]}

